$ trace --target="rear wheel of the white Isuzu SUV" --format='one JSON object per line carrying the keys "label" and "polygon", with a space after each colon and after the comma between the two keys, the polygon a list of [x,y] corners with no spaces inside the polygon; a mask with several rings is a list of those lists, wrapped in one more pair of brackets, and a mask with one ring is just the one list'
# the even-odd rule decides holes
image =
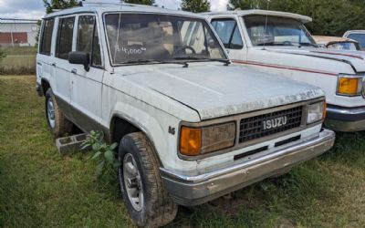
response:
{"label": "rear wheel of the white Isuzu SUV", "polygon": [[58,108],[51,88],[48,88],[46,92],[46,118],[49,130],[56,138],[72,131],[73,124],[65,118],[61,109]]}

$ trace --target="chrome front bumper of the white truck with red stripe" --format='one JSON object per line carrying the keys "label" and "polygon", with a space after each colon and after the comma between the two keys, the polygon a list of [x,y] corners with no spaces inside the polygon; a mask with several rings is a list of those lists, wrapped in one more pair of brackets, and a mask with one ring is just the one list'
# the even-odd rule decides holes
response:
{"label": "chrome front bumper of the white truck with red stripe", "polygon": [[345,132],[365,130],[365,107],[328,105],[325,126],[330,130]]}

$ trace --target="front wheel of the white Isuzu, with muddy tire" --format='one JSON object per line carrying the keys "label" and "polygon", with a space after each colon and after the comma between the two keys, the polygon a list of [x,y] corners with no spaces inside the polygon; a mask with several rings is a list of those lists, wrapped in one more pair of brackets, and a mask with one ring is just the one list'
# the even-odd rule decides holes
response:
{"label": "front wheel of the white Isuzu, with muddy tire", "polygon": [[159,161],[150,140],[135,132],[120,140],[120,192],[132,223],[159,227],[171,223],[177,205],[164,190]]}

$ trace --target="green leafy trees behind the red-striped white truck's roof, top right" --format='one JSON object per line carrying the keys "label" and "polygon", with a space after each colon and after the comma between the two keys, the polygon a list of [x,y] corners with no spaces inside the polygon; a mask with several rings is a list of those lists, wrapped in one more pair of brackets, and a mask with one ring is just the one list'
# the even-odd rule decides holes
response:
{"label": "green leafy trees behind the red-striped white truck's roof, top right", "polygon": [[230,9],[269,9],[310,16],[308,30],[315,35],[342,36],[365,27],[363,0],[230,0]]}

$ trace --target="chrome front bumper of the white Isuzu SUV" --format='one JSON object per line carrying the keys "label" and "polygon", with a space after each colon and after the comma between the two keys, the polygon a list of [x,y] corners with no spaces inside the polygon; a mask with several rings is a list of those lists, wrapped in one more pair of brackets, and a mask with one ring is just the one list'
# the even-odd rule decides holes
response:
{"label": "chrome front bumper of the white Isuzu SUV", "polygon": [[256,181],[286,171],[329,150],[335,133],[323,130],[315,137],[298,140],[290,146],[251,161],[235,163],[216,170],[179,173],[161,168],[162,181],[178,204],[194,206],[237,191]]}

